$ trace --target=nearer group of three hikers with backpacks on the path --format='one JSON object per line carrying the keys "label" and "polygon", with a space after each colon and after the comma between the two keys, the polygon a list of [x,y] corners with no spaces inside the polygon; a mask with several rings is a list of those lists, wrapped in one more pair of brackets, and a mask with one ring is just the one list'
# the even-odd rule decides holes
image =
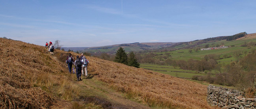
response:
{"label": "nearer group of three hikers with backpacks on the path", "polygon": [[[72,65],[75,65],[75,72],[77,75],[77,81],[82,81],[81,75],[87,77],[87,66],[89,64],[89,61],[86,59],[86,57],[81,54],[81,56],[76,56],[76,60],[74,62],[74,58],[71,53],[69,53],[69,56],[67,57],[66,63],[68,64],[68,70],[71,74],[72,71]],[[74,70],[74,69],[73,69]],[[74,71],[73,71],[74,72]],[[74,73],[75,73],[74,72]]]}

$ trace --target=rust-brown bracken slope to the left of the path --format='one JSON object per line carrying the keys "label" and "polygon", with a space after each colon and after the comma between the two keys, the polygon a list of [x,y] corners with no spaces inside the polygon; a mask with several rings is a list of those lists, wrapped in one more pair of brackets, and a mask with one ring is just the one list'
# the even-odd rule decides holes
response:
{"label": "rust-brown bracken slope to the left of the path", "polygon": [[65,100],[73,98],[61,92],[67,79],[52,75],[66,69],[52,60],[44,47],[0,38],[0,54],[1,109],[51,108],[56,102],[54,93]]}

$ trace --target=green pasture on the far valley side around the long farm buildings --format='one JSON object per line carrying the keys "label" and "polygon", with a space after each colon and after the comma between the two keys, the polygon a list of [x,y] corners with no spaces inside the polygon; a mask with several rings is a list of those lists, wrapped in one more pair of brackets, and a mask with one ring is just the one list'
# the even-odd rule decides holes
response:
{"label": "green pasture on the far valley side around the long farm buildings", "polygon": [[[250,40],[238,40],[238,41],[225,41],[225,43],[227,43],[228,45],[235,45],[233,47],[228,47],[226,49],[215,49],[215,50],[205,50],[205,51],[194,51],[194,49],[178,49],[175,51],[167,51],[167,52],[155,52],[155,54],[157,54],[157,56],[154,56],[153,58],[157,58],[159,56],[166,56],[167,54],[171,55],[168,56],[167,58],[169,59],[173,59],[173,60],[189,60],[189,59],[193,59],[193,60],[201,60],[203,59],[203,57],[205,55],[208,54],[216,54],[219,55],[220,60],[217,60],[219,64],[230,64],[231,62],[237,60],[234,57],[234,53],[239,52],[241,53],[240,57],[244,57],[246,54],[251,53],[251,51],[254,49],[256,49],[255,46],[249,46],[249,47],[241,47],[242,44],[244,44],[245,42],[249,42],[249,41],[254,41],[256,42],[256,39],[250,39]],[[216,41],[216,42],[209,42],[209,43],[203,43],[201,45],[206,45],[206,44],[220,44],[222,43],[222,41]],[[184,47],[186,44],[183,45],[179,45],[176,46],[177,48],[179,47]],[[174,48],[176,48],[174,47]],[[189,50],[192,50],[192,53],[189,52]],[[225,58],[224,56],[229,56],[230,58]]]}

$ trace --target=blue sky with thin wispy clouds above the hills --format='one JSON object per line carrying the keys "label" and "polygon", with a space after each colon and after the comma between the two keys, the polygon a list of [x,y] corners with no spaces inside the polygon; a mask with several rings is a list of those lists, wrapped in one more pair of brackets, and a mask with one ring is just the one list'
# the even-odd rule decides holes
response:
{"label": "blue sky with thin wispy clouds above the hills", "polygon": [[0,0],[0,37],[98,47],[256,33],[256,0]]}

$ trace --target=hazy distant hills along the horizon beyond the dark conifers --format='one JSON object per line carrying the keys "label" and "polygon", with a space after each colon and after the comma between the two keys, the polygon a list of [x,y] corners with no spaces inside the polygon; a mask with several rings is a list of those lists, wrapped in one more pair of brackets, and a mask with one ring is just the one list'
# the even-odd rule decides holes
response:
{"label": "hazy distant hills along the horizon beyond the dark conifers", "polygon": [[160,49],[162,47],[169,47],[174,45],[175,43],[171,42],[156,42],[156,43],[124,43],[124,44],[116,44],[116,45],[108,45],[102,47],[64,47],[65,51],[73,50],[88,53],[110,53],[113,54],[119,47],[123,47],[126,52],[130,51],[143,51],[143,50],[152,50],[152,49]]}

